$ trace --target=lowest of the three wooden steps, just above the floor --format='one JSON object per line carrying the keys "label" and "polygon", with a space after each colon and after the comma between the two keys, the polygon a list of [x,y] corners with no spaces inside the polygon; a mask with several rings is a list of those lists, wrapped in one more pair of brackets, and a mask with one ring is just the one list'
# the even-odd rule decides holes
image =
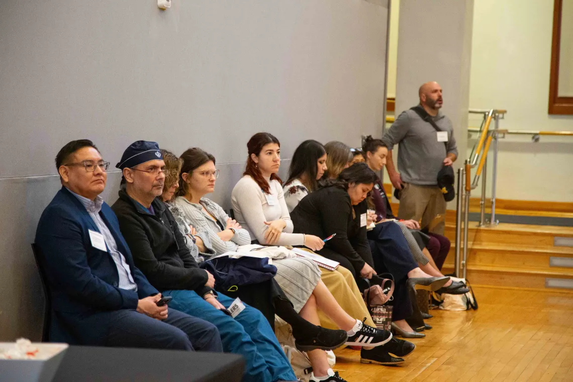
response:
{"label": "lowest of the three wooden steps, just above the floor", "polygon": [[[453,267],[442,269],[442,273],[453,271]],[[572,279],[570,274],[545,272],[535,269],[514,269],[511,267],[493,267],[468,265],[467,278],[472,285],[501,286],[504,288],[527,288],[552,292],[573,293],[573,289],[545,288],[547,278]]]}

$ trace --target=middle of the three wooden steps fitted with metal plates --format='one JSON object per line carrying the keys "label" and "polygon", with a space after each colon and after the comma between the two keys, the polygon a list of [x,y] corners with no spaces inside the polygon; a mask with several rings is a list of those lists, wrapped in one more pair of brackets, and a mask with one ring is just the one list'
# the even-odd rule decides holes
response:
{"label": "middle of the three wooden steps fitted with metal plates", "polygon": [[[446,263],[452,265],[456,258],[454,245],[450,249]],[[565,257],[573,260],[571,247],[528,247],[504,245],[499,243],[474,243],[468,249],[468,263],[517,269],[536,269],[544,271],[562,271],[571,274],[573,267],[550,266],[551,257]]]}

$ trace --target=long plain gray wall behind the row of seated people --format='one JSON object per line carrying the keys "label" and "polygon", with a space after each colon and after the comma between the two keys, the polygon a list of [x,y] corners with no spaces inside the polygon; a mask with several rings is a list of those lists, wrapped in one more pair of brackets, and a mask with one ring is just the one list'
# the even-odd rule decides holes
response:
{"label": "long plain gray wall behind the row of seated people", "polygon": [[[138,139],[205,148],[222,171],[214,199],[228,207],[254,132],[274,133],[285,159],[304,139],[379,135],[387,17],[383,0],[4,2],[0,340],[40,335],[29,243],[60,187],[62,145],[92,139],[112,165]],[[108,202],[118,184],[112,172]]]}

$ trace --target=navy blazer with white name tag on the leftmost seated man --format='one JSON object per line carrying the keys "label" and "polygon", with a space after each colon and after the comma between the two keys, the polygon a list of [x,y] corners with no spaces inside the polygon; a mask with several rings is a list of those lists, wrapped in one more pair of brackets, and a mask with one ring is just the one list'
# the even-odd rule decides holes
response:
{"label": "navy blazer with white name tag on the leftmost seated man", "polygon": [[104,345],[109,312],[136,309],[138,300],[158,293],[135,267],[108,204],[103,203],[100,216],[125,257],[138,291],[117,287],[119,276],[113,258],[93,247],[89,238],[88,230],[99,232],[96,223],[80,200],[62,187],[42,212],[36,230],[36,245],[44,257],[52,294],[50,341]]}

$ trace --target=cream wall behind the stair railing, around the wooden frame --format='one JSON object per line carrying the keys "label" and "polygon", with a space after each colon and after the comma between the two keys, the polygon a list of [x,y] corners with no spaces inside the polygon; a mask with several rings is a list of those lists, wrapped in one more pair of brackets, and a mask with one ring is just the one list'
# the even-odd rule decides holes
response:
{"label": "cream wall behind the stair railing, around the wooden frame", "polygon": [[[573,131],[573,116],[547,114],[552,23],[550,0],[474,2],[470,107],[507,109],[501,128]],[[571,202],[572,164],[571,137],[532,143],[508,136],[500,144],[497,197]]]}

